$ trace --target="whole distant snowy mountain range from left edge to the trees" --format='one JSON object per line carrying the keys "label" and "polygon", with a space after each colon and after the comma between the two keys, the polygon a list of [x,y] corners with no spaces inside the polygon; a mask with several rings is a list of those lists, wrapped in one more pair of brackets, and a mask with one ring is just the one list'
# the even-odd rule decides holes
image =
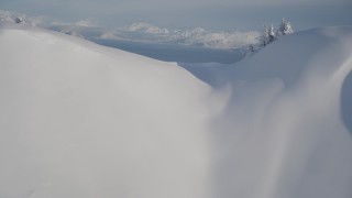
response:
{"label": "whole distant snowy mountain range from left edge to the trees", "polygon": [[260,42],[257,31],[209,31],[201,28],[169,30],[145,22],[136,22],[123,28],[106,29],[99,28],[89,19],[65,23],[44,16],[28,16],[18,12],[0,10],[0,22],[15,23],[16,20],[32,26],[46,28],[90,41],[99,38],[222,50],[245,48]]}

